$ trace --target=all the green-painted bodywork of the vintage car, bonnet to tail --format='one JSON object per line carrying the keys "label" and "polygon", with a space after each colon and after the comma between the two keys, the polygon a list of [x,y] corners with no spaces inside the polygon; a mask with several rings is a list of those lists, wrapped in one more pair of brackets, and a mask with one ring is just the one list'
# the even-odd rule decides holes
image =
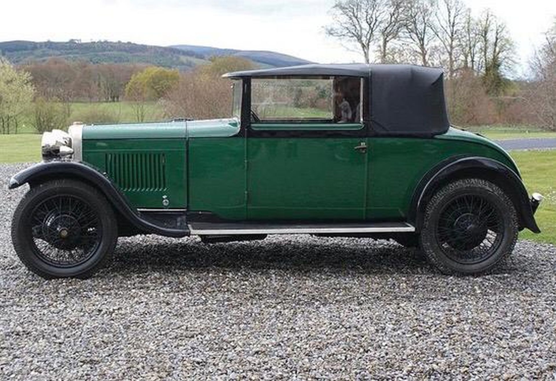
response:
{"label": "all the green-painted bodywork of the vintage car, bonnet to tail", "polygon": [[[254,127],[357,131],[361,125]],[[498,145],[454,128],[433,138],[245,138],[237,132],[236,119],[87,126],[83,160],[107,172],[136,207],[160,208],[166,195],[171,208],[229,220],[404,220],[415,186],[444,159],[490,157],[517,171]],[[366,152],[355,150],[361,143]]]}

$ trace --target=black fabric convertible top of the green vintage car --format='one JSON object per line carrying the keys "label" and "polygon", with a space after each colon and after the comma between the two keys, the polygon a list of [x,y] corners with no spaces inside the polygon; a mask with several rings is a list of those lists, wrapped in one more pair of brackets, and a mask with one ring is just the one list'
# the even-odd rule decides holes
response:
{"label": "black fabric convertible top of the green vintage car", "polygon": [[229,78],[347,76],[369,78],[369,112],[377,135],[431,136],[448,131],[441,68],[347,63],[279,67],[227,73]]}

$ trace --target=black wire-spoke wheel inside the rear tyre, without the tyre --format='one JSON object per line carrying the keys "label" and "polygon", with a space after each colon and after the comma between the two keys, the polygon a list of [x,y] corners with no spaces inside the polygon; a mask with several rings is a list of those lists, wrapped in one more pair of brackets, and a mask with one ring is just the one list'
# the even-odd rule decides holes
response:
{"label": "black wire-spoke wheel inside the rear tyre, without the tyre", "polygon": [[450,259],[475,264],[488,259],[502,243],[503,219],[484,197],[462,195],[440,212],[436,239]]}

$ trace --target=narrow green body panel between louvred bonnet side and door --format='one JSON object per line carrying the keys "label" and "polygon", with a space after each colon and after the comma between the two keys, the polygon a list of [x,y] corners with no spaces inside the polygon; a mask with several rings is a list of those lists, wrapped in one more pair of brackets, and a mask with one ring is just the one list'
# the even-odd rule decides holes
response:
{"label": "narrow green body panel between louvred bonnet side and door", "polygon": [[192,138],[188,152],[189,209],[245,220],[245,138]]}

